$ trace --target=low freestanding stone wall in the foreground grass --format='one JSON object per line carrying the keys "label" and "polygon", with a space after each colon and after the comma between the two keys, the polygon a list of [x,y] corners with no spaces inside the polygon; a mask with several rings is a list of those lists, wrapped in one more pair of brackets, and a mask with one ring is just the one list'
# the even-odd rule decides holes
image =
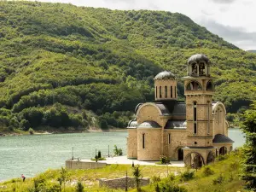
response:
{"label": "low freestanding stone wall in the foreground grass", "polygon": [[[140,179],[140,186],[148,185],[150,179],[147,177]],[[120,178],[113,178],[113,179],[107,179],[107,178],[100,178],[99,179],[99,186],[100,187],[108,187],[112,189],[125,189],[126,185],[126,177],[120,177]],[[127,188],[135,188],[136,187],[136,181],[135,178],[127,177]]]}

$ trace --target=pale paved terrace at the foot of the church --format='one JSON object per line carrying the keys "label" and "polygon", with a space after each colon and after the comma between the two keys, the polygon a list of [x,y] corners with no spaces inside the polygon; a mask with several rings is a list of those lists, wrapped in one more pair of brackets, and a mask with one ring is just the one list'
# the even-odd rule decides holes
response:
{"label": "pale paved terrace at the foot of the church", "polygon": [[[84,162],[95,162],[92,160],[80,160]],[[98,162],[107,163],[109,164],[122,164],[122,165],[131,165],[132,162],[134,165],[140,165],[140,166],[166,166],[166,165],[158,165],[155,164],[159,161],[140,161],[140,160],[129,160],[127,159],[127,156],[116,156],[116,157],[107,157],[106,160],[99,160]],[[177,161],[177,160],[171,160],[170,164],[168,166],[176,166],[176,167],[184,167],[183,161]]]}

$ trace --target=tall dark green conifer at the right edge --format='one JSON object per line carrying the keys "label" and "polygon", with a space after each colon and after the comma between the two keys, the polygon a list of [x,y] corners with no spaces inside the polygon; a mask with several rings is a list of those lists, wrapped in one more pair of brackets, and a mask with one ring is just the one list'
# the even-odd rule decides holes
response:
{"label": "tall dark green conifer at the right edge", "polygon": [[245,158],[242,179],[246,181],[246,189],[256,191],[256,102],[243,117],[242,130],[246,134],[247,143],[243,148]]}

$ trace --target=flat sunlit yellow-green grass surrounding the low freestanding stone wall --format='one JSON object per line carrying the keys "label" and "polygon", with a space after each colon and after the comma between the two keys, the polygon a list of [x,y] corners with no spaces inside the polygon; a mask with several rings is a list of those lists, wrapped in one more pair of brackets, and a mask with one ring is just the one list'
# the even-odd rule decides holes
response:
{"label": "flat sunlit yellow-green grass surrounding the low freestanding stone wall", "polygon": [[[166,166],[140,166],[143,177],[166,177]],[[168,172],[183,172],[184,168],[168,167]],[[108,191],[108,189],[98,187],[98,178],[116,178],[125,177],[125,174],[132,177],[131,165],[111,165],[100,169],[91,170],[70,170],[68,171],[69,181],[67,182],[66,192],[75,191],[74,182],[81,181],[85,191]],[[57,178],[60,177],[60,170],[48,170],[39,174],[34,178],[44,177],[46,183],[57,183]],[[9,181],[0,183],[0,191],[25,192],[33,186],[33,178],[26,178],[25,182],[21,178],[14,178]],[[124,191],[113,189],[113,192]]]}

